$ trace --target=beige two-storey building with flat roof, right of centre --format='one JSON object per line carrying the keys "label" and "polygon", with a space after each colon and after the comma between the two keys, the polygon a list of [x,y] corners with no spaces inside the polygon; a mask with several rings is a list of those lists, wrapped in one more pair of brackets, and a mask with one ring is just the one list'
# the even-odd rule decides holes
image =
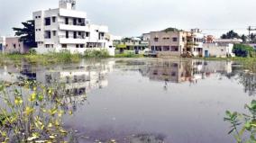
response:
{"label": "beige two-storey building with flat roof, right of centre", "polygon": [[204,36],[191,31],[151,31],[150,49],[158,57],[202,56]]}

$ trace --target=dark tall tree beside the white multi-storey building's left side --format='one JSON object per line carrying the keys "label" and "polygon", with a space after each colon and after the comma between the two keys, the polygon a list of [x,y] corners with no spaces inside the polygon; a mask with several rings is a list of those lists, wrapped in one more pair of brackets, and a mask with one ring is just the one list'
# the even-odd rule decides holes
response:
{"label": "dark tall tree beside the white multi-storey building's left side", "polygon": [[34,48],[37,46],[35,42],[35,31],[34,31],[34,21],[22,22],[23,28],[13,28],[15,31],[15,36],[20,36],[20,40],[23,41],[24,45],[29,48]]}

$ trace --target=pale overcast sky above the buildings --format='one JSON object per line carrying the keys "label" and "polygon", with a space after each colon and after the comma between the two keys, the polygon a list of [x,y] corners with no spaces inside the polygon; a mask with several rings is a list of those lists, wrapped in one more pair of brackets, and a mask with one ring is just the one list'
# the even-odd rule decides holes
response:
{"label": "pale overcast sky above the buildings", "polygon": [[[32,12],[57,8],[59,0],[0,0],[0,35],[32,19]],[[228,30],[248,33],[256,26],[255,0],[78,0],[88,19],[105,24],[114,35],[139,36],[167,27],[220,35]]]}

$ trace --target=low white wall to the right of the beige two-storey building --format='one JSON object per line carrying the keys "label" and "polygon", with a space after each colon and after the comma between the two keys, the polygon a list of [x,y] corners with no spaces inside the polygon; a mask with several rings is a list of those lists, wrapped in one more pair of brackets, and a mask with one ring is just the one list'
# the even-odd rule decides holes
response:
{"label": "low white wall to the right of the beige two-storey building", "polygon": [[[204,43],[204,57],[220,57],[233,56],[233,44],[220,43]],[[206,55],[206,52],[208,53]]]}

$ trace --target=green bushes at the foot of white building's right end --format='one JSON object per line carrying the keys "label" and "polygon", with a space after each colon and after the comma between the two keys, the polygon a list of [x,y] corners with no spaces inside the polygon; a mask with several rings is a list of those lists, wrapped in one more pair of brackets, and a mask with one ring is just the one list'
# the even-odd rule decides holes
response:
{"label": "green bushes at the foot of white building's right end", "polygon": [[109,58],[107,49],[87,49],[84,53],[85,58]]}

